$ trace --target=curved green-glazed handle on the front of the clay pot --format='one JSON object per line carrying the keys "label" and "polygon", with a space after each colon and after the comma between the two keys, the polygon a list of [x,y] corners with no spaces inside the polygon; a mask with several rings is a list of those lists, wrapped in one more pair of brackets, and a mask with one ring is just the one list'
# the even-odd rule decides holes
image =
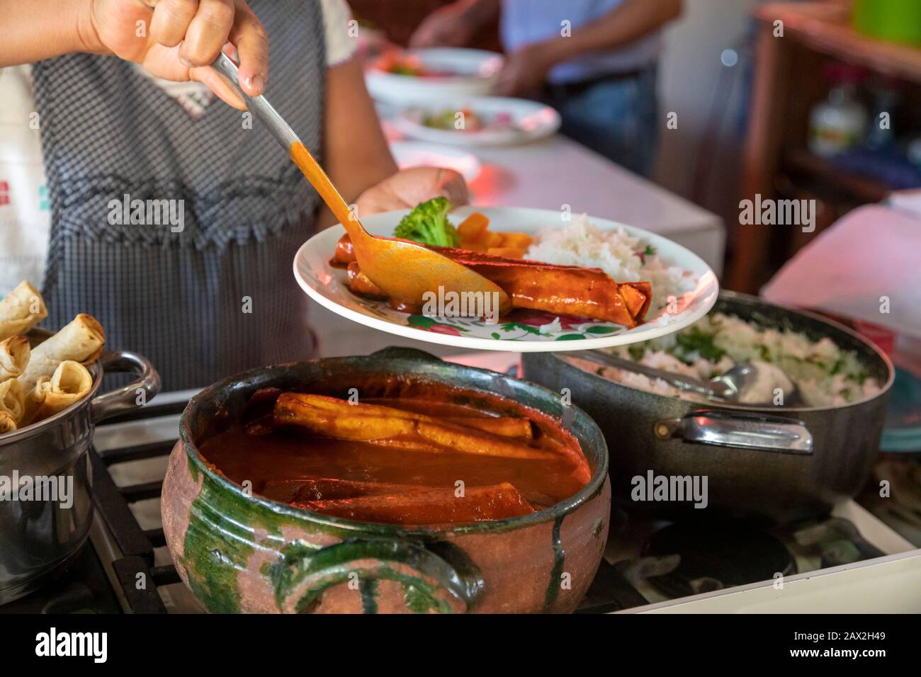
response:
{"label": "curved green-glazed handle on the front of the clay pot", "polygon": [[[407,604],[415,612],[448,613],[448,602],[437,595],[440,591],[447,591],[469,610],[484,588],[479,569],[453,543],[426,547],[390,538],[353,538],[308,554],[293,544],[272,567],[272,579],[279,607],[297,590],[297,613],[311,613],[326,589],[352,580],[389,579],[412,588],[413,601],[407,595]],[[367,605],[376,604],[373,589],[363,590],[362,598]],[[367,606],[365,611],[374,613]]]}

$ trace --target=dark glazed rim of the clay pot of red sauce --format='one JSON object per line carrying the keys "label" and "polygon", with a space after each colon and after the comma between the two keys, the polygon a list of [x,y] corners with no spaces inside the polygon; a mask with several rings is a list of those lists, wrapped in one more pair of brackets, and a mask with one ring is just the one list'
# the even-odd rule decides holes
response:
{"label": "dark glazed rim of the clay pot of red sauce", "polygon": [[[582,506],[584,503],[588,502],[589,499],[598,495],[601,491],[601,488],[604,485],[604,482],[608,477],[608,448],[607,443],[604,441],[604,436],[601,434],[598,424],[581,409],[576,406],[572,406],[575,417],[583,418],[584,421],[589,425],[589,427],[595,428],[595,433],[600,439],[601,448],[600,456],[601,462],[598,463],[591,474],[591,479],[589,479],[589,484],[583,486],[576,494],[569,496],[559,503],[555,503],[550,508],[544,508],[537,512],[533,512],[530,515],[523,515],[520,517],[512,517],[507,519],[495,519],[493,521],[484,521],[484,522],[471,522],[467,524],[457,524],[457,525],[445,525],[441,528],[432,528],[426,526],[400,526],[397,524],[381,524],[379,522],[363,522],[356,519],[344,519],[338,517],[332,517],[330,515],[323,515],[318,512],[313,512],[311,510],[306,510],[304,508],[294,508],[286,503],[281,503],[279,501],[273,501],[269,498],[263,498],[262,496],[256,496],[255,494],[247,494],[243,487],[239,484],[231,481],[222,473],[218,473],[214,466],[204,460],[204,457],[199,453],[198,447],[192,438],[192,429],[190,426],[190,419],[192,417],[192,411],[195,409],[199,403],[202,403],[206,397],[210,395],[212,391],[217,391],[227,386],[241,380],[245,380],[251,377],[262,374],[268,370],[277,369],[282,371],[285,368],[291,368],[297,364],[305,364],[311,362],[336,362],[340,360],[358,360],[363,359],[367,360],[368,367],[381,367],[381,362],[383,361],[380,357],[371,356],[361,356],[361,357],[318,357],[312,360],[305,360],[304,362],[297,363],[292,362],[288,364],[272,365],[270,367],[261,367],[250,369],[249,371],[241,372],[235,376],[228,377],[218,381],[212,386],[205,388],[203,391],[200,391],[196,394],[189,403],[186,405],[185,409],[182,412],[180,418],[180,441],[182,448],[185,450],[186,457],[190,463],[193,463],[200,473],[204,473],[211,479],[213,482],[216,482],[223,488],[232,492],[236,496],[239,496],[243,500],[255,502],[257,505],[262,506],[263,508],[268,508],[277,515],[284,515],[286,517],[293,517],[297,519],[309,518],[313,522],[320,522],[321,524],[333,528],[342,529],[345,531],[356,531],[364,534],[373,533],[378,536],[418,536],[426,537],[431,536],[435,538],[441,538],[445,533],[454,533],[454,534],[477,534],[477,533],[498,533],[502,531],[513,531],[520,529],[522,527],[529,527],[535,524],[542,524],[544,522],[554,521],[555,519],[561,519],[563,516],[575,511],[577,508]],[[416,358],[417,359],[417,358]],[[390,359],[391,362],[400,362],[399,358]],[[402,360],[405,362],[410,362],[413,360]],[[414,362],[415,366],[418,366],[418,362]],[[488,372],[490,374],[497,375],[502,379],[512,379],[512,377],[507,374],[502,374],[500,372],[492,371],[491,369],[481,369],[466,367],[463,365],[454,365],[449,362],[443,362],[438,360],[439,365],[449,366],[452,371],[466,371],[466,370],[475,370],[481,372]],[[330,369],[334,372],[335,368]],[[379,372],[390,373],[392,371],[384,368],[379,368]],[[401,372],[405,373],[405,372]],[[414,374],[416,376],[416,374]],[[514,379],[519,380],[519,379]],[[526,384],[529,388],[533,388],[539,391],[544,391],[554,397],[557,397],[554,391],[550,391],[543,386],[540,386],[536,383],[531,383],[530,381],[520,381],[521,383]],[[473,386],[464,386],[465,389],[471,391],[482,391],[481,389],[474,388]]]}

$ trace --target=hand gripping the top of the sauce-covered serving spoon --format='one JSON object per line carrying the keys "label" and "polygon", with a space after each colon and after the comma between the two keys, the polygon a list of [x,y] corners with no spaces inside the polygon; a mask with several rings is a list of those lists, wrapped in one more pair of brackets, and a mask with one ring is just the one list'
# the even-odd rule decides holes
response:
{"label": "hand gripping the top of the sauce-covered serving spoon", "polygon": [[244,0],[85,0],[80,34],[86,51],[114,54],[168,80],[203,82],[228,104],[246,104],[210,68],[223,49],[239,58],[239,86],[262,94],[269,76],[269,41]]}

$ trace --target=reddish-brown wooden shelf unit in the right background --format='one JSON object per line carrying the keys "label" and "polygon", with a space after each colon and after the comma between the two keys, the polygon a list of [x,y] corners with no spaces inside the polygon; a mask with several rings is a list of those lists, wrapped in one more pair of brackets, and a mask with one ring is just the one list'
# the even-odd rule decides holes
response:
{"label": "reddish-brown wooden shelf unit in the right background", "polygon": [[[757,292],[799,247],[858,204],[879,202],[885,185],[841,172],[806,150],[812,106],[826,95],[822,65],[835,60],[921,85],[921,49],[876,41],[851,28],[846,2],[769,3],[755,10],[758,39],[740,200],[810,198],[817,228],[729,224],[725,284]],[[777,24],[776,22],[780,22]],[[778,28],[783,29],[782,37]]]}

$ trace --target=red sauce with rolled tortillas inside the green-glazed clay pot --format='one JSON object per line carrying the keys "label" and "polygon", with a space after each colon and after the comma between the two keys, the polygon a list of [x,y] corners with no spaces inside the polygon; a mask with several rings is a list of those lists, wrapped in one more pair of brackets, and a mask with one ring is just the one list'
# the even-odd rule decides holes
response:
{"label": "red sauce with rolled tortillas inside the green-glazed clay pot", "polygon": [[[255,493],[313,512],[405,525],[506,519],[548,508],[590,478],[559,422],[514,403],[484,411],[426,382],[359,403],[257,391],[204,459]],[[498,409],[498,405],[496,409]]]}

